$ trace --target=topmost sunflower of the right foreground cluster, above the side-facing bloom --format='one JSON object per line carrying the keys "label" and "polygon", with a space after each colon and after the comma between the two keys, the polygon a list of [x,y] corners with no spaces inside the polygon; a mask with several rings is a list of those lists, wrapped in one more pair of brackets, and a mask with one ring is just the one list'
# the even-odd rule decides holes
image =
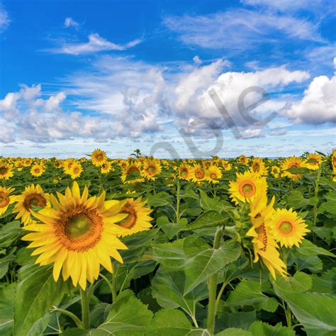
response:
{"label": "topmost sunflower of the right foreground cluster, above the side-facing bloom", "polygon": [[253,200],[267,191],[266,179],[248,171],[244,174],[237,173],[237,181],[230,181],[229,186],[230,198],[233,198],[236,204],[239,201],[245,202],[245,199]]}

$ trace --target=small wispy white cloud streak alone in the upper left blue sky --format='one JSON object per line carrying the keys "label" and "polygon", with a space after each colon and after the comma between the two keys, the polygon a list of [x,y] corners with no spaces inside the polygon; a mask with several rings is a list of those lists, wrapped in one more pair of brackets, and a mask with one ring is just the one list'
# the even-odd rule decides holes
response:
{"label": "small wispy white cloud streak alone in the upper left blue sky", "polygon": [[100,51],[126,50],[142,42],[141,39],[136,39],[126,43],[125,45],[118,45],[106,40],[105,38],[101,38],[98,33],[90,34],[88,38],[89,41],[86,43],[65,43],[59,48],[48,51],[57,54],[82,55]]}

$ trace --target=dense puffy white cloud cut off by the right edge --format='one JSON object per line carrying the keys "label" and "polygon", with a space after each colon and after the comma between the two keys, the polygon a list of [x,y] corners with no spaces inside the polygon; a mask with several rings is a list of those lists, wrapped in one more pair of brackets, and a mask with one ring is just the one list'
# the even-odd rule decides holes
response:
{"label": "dense puffy white cloud cut off by the right edge", "polygon": [[281,114],[294,123],[336,123],[336,76],[315,77],[303,93],[303,99],[288,103]]}

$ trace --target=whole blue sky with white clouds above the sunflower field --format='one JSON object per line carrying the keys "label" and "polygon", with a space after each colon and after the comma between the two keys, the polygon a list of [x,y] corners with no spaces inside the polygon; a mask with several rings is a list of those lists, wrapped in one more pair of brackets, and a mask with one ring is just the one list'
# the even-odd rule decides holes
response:
{"label": "whole blue sky with white clouds above the sunflower field", "polygon": [[336,147],[335,1],[0,0],[0,155]]}

